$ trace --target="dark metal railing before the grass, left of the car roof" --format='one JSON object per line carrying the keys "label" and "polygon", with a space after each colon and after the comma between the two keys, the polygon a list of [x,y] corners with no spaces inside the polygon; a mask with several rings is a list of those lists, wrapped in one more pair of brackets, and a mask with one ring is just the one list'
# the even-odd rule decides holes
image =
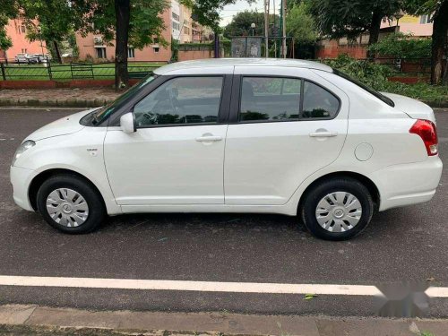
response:
{"label": "dark metal railing before the grass, left of the car roof", "polygon": [[[129,62],[129,76],[130,78],[142,78],[165,64],[166,62]],[[64,65],[51,62],[36,65],[0,63],[0,80],[2,81],[72,81],[114,78],[114,63],[70,63]]]}

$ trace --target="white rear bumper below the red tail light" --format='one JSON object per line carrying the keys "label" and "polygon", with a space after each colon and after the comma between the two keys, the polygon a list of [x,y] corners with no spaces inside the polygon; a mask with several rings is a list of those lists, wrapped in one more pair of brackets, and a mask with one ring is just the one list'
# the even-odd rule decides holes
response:
{"label": "white rear bumper below the red tail light", "polygon": [[372,173],[370,178],[380,192],[379,211],[431,200],[439,185],[442,168],[442,160],[435,156]]}

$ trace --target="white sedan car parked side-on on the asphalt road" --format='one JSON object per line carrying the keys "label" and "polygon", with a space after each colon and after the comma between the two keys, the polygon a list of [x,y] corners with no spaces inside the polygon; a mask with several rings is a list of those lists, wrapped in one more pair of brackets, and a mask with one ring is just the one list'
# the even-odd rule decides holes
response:
{"label": "white sedan car parked side-on on the asphalt road", "polygon": [[330,240],[429,201],[441,174],[422,102],[326,65],[254,58],[162,66],[30,134],[11,167],[14,201],[67,233],[121,213],[263,212]]}

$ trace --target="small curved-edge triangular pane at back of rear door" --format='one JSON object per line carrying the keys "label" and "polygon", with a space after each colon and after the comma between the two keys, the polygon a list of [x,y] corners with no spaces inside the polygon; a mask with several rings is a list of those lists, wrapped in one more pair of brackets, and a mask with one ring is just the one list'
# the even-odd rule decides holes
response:
{"label": "small curved-edge triangular pane at back of rear door", "polygon": [[339,110],[339,100],[313,82],[305,81],[302,118],[332,118]]}

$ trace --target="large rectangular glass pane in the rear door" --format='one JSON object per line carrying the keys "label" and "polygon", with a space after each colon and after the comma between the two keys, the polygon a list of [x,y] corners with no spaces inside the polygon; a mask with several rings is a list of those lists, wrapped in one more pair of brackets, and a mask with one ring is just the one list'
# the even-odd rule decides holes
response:
{"label": "large rectangular glass pane in the rear door", "polygon": [[277,77],[244,77],[239,121],[297,120],[301,80]]}

